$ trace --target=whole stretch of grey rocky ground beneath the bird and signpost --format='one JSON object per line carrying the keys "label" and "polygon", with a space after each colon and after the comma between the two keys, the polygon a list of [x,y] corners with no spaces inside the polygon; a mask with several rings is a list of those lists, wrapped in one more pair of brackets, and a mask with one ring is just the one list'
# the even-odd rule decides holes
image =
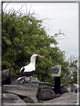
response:
{"label": "whole stretch of grey rocky ground beneath the bird and signpost", "polygon": [[61,94],[56,95],[54,85],[40,82],[37,78],[25,78],[23,83],[16,82],[17,76],[9,75],[8,70],[2,73],[2,103],[4,106],[27,106],[31,104],[78,104],[79,86],[77,84],[61,84]]}

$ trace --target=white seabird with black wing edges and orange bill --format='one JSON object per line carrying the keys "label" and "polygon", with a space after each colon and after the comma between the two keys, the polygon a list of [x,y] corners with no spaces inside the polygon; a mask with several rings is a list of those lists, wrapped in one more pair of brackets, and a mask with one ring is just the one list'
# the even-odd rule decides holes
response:
{"label": "white seabird with black wing edges and orange bill", "polygon": [[34,74],[35,70],[36,70],[36,58],[45,58],[44,56],[38,55],[38,54],[33,54],[30,58],[30,63],[26,66],[23,66],[20,69],[20,75],[17,79],[17,81],[21,81],[21,83],[23,82],[23,80],[25,81],[26,77],[30,77],[30,81],[31,81],[31,76]]}

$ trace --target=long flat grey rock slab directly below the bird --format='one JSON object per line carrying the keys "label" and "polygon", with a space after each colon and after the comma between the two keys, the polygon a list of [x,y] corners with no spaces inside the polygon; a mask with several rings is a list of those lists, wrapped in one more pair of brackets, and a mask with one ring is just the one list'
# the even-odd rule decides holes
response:
{"label": "long flat grey rock slab directly below the bird", "polygon": [[23,97],[30,97],[38,102],[36,95],[38,92],[39,84],[36,83],[22,83],[17,85],[3,85],[3,92],[14,93]]}

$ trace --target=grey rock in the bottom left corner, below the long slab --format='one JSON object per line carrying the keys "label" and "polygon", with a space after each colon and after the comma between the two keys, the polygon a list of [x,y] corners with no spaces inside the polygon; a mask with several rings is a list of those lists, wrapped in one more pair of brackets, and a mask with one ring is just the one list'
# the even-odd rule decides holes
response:
{"label": "grey rock in the bottom left corner, below the long slab", "polygon": [[20,104],[24,103],[24,104],[26,104],[22,99],[20,99],[15,94],[3,93],[2,99],[3,99],[3,104],[4,103],[20,103]]}

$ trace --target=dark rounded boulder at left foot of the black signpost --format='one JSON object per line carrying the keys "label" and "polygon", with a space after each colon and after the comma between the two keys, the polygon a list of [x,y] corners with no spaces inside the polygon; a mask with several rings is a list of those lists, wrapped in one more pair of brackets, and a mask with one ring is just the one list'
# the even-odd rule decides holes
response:
{"label": "dark rounded boulder at left foot of the black signpost", "polygon": [[52,89],[40,89],[38,91],[38,100],[50,100],[55,97],[55,92]]}

